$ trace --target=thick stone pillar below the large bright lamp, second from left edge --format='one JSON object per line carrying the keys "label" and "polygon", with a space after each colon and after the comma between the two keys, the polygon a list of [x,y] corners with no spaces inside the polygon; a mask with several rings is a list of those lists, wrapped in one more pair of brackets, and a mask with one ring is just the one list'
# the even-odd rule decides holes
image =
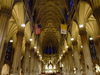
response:
{"label": "thick stone pillar below the large bright lamp, second from left edge", "polygon": [[16,48],[14,52],[14,59],[13,59],[13,75],[20,75],[20,65],[21,65],[21,54],[22,54],[22,41],[23,41],[23,32],[17,33],[17,42]]}

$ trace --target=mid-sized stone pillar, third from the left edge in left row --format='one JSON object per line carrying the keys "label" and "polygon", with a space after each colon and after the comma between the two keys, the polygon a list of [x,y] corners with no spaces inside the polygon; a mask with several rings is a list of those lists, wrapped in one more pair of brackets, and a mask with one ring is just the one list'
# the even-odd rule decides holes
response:
{"label": "mid-sized stone pillar, third from the left edge in left row", "polygon": [[29,75],[30,42],[25,44],[24,75]]}

